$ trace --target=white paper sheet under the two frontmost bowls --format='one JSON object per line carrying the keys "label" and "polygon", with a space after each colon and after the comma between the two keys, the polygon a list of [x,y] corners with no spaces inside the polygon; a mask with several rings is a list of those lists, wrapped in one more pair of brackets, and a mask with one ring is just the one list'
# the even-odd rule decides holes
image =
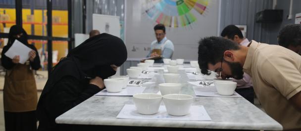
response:
{"label": "white paper sheet under the two frontmost bowls", "polygon": [[138,113],[134,104],[126,104],[123,106],[116,118],[143,120],[211,121],[211,118],[202,105],[191,106],[190,113],[185,116],[172,116],[166,112],[164,105],[161,105],[159,107],[159,111],[156,114],[143,115]]}

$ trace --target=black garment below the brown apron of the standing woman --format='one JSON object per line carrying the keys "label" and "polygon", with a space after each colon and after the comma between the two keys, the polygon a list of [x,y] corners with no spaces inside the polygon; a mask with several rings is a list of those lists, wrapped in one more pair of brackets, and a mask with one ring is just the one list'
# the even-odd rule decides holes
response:
{"label": "black garment below the brown apron of the standing woman", "polygon": [[4,111],[5,131],[37,131],[36,111]]}

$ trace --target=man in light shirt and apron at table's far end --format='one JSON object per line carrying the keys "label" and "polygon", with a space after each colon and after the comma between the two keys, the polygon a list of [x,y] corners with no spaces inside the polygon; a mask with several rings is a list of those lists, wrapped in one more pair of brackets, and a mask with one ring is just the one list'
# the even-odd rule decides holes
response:
{"label": "man in light shirt and apron at table's far end", "polygon": [[166,38],[165,26],[163,24],[157,24],[153,30],[156,40],[151,42],[151,50],[147,58],[154,59],[154,63],[163,63],[163,58],[171,59],[174,45]]}

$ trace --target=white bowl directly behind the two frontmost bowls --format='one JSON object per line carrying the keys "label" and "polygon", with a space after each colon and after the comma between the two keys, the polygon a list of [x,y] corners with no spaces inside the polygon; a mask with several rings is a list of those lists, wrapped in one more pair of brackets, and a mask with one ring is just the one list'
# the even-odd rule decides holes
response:
{"label": "white bowl directly behind the two frontmost bowls", "polygon": [[161,83],[159,84],[159,90],[161,95],[167,94],[179,94],[182,89],[182,84],[180,83]]}

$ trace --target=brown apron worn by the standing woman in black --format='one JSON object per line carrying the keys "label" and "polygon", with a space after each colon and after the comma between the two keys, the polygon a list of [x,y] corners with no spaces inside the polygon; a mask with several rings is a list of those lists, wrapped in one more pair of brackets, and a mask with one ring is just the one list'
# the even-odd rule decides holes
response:
{"label": "brown apron worn by the standing woman in black", "polygon": [[7,70],[3,89],[4,111],[33,111],[36,110],[37,102],[37,86],[29,62]]}

